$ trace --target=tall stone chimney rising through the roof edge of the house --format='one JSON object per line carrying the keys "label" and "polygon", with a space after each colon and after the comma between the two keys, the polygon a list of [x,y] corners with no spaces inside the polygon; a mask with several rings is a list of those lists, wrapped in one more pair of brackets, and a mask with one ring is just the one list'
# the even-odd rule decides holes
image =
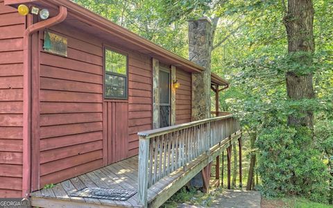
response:
{"label": "tall stone chimney rising through the roof edge of the house", "polygon": [[210,118],[211,28],[207,17],[189,21],[189,60],[205,67],[192,73],[192,121]]}

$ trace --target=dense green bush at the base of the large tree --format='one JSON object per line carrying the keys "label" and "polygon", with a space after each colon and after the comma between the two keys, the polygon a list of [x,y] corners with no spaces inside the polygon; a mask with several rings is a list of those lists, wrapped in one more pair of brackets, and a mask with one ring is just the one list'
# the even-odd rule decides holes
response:
{"label": "dense green bush at the base of the large tree", "polygon": [[264,196],[305,196],[327,202],[327,167],[314,148],[307,128],[275,126],[266,128],[257,139],[258,171]]}

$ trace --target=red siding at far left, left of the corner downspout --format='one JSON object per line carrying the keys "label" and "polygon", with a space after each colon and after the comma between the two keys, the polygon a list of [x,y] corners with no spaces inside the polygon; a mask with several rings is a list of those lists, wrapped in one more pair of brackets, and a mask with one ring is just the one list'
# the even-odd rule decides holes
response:
{"label": "red siding at far left, left of the corner downspout", "polygon": [[0,197],[22,196],[25,18],[0,0]]}

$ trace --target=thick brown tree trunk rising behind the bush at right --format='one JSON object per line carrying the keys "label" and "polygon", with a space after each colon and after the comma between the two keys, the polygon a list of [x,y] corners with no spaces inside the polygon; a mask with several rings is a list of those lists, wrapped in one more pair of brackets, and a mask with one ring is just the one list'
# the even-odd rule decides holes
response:
{"label": "thick brown tree trunk rising behind the bush at right", "polygon": [[[284,3],[284,0],[282,0]],[[295,55],[293,61],[300,65],[312,64],[314,53],[314,6],[311,0],[288,0],[285,8],[284,25],[287,29],[288,52]],[[300,54],[296,54],[302,52]],[[298,71],[300,69],[296,69]],[[287,95],[291,100],[314,98],[312,73],[286,73]],[[311,111],[301,112],[304,116],[292,114],[288,125],[313,127],[314,114]]]}

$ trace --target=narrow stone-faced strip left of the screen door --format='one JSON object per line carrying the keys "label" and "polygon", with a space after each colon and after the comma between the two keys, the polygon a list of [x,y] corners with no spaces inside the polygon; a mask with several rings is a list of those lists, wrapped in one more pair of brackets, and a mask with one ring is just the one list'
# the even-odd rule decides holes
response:
{"label": "narrow stone-faced strip left of the screen door", "polygon": [[153,129],[160,128],[160,62],[153,58]]}

